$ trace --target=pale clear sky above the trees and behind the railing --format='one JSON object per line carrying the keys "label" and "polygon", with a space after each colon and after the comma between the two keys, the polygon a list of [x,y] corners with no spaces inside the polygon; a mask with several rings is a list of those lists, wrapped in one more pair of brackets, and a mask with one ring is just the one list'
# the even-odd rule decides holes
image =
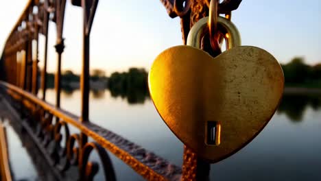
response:
{"label": "pale clear sky above the trees and behind the railing", "polygon": [[[80,73],[82,62],[82,9],[67,0],[62,70]],[[0,49],[27,0],[2,1]],[[321,1],[243,0],[232,13],[242,45],[261,47],[280,63],[294,57],[308,64],[321,62]],[[180,19],[171,19],[159,0],[99,1],[91,30],[91,69],[109,75],[129,67],[150,69],[161,51],[182,45]],[[43,36],[39,65],[43,66]],[[48,71],[56,70],[56,27],[49,24]]]}

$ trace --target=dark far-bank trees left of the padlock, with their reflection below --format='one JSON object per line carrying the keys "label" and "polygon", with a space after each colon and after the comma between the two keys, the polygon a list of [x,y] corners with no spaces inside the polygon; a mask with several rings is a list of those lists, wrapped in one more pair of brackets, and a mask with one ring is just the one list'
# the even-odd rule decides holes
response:
{"label": "dark far-bank trees left of the padlock, with their reflection below", "polygon": [[[47,87],[54,87],[54,74],[47,74]],[[149,97],[147,86],[148,73],[145,69],[130,68],[126,72],[115,72],[109,77],[106,76],[105,71],[94,69],[91,71],[91,82],[100,88],[108,88],[112,97],[122,97],[128,100],[130,104],[143,103]],[[74,90],[79,86],[80,75],[67,70],[61,75],[62,88],[65,90]],[[102,85],[103,84],[103,85]],[[95,89],[95,85],[91,88]]]}

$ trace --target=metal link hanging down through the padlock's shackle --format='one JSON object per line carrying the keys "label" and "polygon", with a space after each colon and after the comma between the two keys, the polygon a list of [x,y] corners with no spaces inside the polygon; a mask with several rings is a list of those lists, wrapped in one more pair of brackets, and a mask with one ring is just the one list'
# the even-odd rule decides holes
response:
{"label": "metal link hanging down through the padlock's shackle", "polygon": [[218,17],[218,0],[211,0],[210,2],[210,8],[209,8],[209,34],[210,34],[210,41],[211,41],[211,47],[214,51],[217,51],[221,49],[218,42],[217,37],[217,17]]}

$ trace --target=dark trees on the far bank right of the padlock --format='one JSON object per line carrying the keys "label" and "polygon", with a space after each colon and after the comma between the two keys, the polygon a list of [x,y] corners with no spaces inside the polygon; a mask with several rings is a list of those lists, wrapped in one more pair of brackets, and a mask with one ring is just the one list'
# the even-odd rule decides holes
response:
{"label": "dark trees on the far bank right of the padlock", "polygon": [[303,58],[294,58],[281,66],[286,85],[321,87],[321,64],[310,66]]}

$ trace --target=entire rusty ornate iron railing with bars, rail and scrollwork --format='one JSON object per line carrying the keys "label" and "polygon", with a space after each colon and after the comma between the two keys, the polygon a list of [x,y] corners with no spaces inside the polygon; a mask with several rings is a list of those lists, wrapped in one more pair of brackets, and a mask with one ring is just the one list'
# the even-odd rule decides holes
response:
{"label": "entire rusty ornate iron railing with bars, rail and scrollwork", "polygon": [[[180,16],[184,43],[193,23],[209,14],[209,0],[161,1],[171,18]],[[240,2],[241,0],[226,0],[219,3],[219,13],[229,14]],[[80,179],[91,180],[97,173],[98,165],[89,162],[88,157],[95,149],[102,161],[106,180],[115,180],[112,163],[106,152],[108,149],[147,180],[207,180],[210,165],[198,158],[188,147],[185,147],[183,165],[178,167],[88,120],[89,40],[98,0],[72,0],[71,3],[82,8],[84,22],[80,117],[60,108],[61,55],[64,51],[62,29],[66,0],[30,0],[5,43],[0,61],[2,93],[19,112],[17,114],[20,116],[21,125],[32,136],[57,176],[71,167],[78,167]],[[49,21],[56,24],[57,32],[55,105],[46,102]],[[38,46],[39,34],[45,37],[45,47]],[[204,43],[205,49],[206,46],[210,47],[209,43]],[[37,81],[38,49],[44,49],[45,52],[40,85]],[[36,96],[39,87],[43,90],[40,98]],[[77,128],[79,134],[70,134],[69,125]],[[63,136],[67,140],[65,145],[61,143]],[[92,138],[93,142],[88,142],[88,137]]]}

